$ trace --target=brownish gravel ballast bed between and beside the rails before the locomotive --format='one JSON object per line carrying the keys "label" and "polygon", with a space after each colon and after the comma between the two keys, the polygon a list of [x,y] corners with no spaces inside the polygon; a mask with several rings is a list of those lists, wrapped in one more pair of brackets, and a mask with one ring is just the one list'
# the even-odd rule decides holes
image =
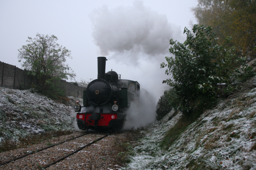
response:
{"label": "brownish gravel ballast bed between and beside the rails before the locomotive", "polygon": [[[61,141],[80,136],[81,132],[75,132],[70,135],[57,137],[50,139],[41,144],[31,145],[27,148],[16,149],[12,151],[7,151],[0,153],[0,163],[14,159],[16,157],[25,155],[31,151],[36,151],[38,149],[47,147],[49,144],[59,143]],[[63,144],[56,145],[52,148],[46,150],[35,152],[29,156],[21,158],[16,161],[12,161],[5,165],[0,166],[1,170],[36,170],[47,166],[48,164],[59,160],[61,157],[72,153],[74,150],[85,146],[100,137],[105,136],[105,133],[91,133],[77,139],[67,141]],[[115,149],[115,144],[118,140],[123,140],[126,137],[126,132],[110,134],[104,139],[97,141],[96,143],[82,149],[78,153],[67,157],[66,159],[48,167],[47,169],[94,169],[94,170],[116,170],[120,169],[121,166],[118,165],[117,161],[117,151]],[[119,163],[120,164],[120,163]]]}

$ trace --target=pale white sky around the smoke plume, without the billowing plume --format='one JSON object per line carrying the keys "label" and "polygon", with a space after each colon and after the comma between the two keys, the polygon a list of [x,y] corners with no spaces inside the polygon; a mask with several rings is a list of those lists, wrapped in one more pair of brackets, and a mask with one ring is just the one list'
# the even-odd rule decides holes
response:
{"label": "pale white sky around the smoke plume, without the billowing plume", "polygon": [[[76,73],[76,81],[80,82],[81,78],[96,79],[97,57],[102,55],[100,48],[93,43],[93,24],[89,15],[95,14],[104,5],[113,11],[121,7],[132,7],[133,2],[134,0],[0,0],[0,61],[21,68],[17,50],[27,44],[28,36],[35,38],[36,33],[54,34],[59,39],[59,45],[71,50],[73,59],[67,62]],[[194,17],[190,8],[195,7],[197,1],[144,0],[143,5],[150,11],[166,15],[168,22],[180,26],[183,33],[184,27],[189,27],[189,21]],[[164,75],[165,69],[160,69],[160,63],[166,55],[157,59],[142,55],[144,57],[138,59],[137,65],[125,64],[120,59],[116,62],[115,57],[104,56],[109,59],[106,62],[106,72],[113,69],[121,74],[121,79],[138,81],[142,88],[148,91],[154,89],[153,96],[159,98],[163,90],[168,88],[162,84],[168,76]]]}

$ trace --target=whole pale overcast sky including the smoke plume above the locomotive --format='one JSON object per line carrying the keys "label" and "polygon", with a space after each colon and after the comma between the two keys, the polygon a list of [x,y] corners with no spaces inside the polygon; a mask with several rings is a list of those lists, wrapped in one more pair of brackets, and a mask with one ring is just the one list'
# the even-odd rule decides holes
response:
{"label": "whole pale overcast sky including the smoke plume above the locomotive", "polygon": [[17,50],[28,36],[54,34],[71,50],[67,63],[76,81],[96,79],[97,57],[104,56],[106,72],[138,81],[159,98],[168,88],[160,63],[171,56],[169,40],[184,41],[196,5],[196,0],[0,0],[0,61],[21,68]]}

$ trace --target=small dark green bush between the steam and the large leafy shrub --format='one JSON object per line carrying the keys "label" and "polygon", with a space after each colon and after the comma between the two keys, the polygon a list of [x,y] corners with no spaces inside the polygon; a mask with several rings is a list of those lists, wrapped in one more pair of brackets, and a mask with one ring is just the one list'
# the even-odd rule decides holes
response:
{"label": "small dark green bush between the steam and the large leafy shrub", "polygon": [[156,119],[161,120],[175,106],[176,96],[173,89],[164,91],[164,95],[160,97],[156,105]]}

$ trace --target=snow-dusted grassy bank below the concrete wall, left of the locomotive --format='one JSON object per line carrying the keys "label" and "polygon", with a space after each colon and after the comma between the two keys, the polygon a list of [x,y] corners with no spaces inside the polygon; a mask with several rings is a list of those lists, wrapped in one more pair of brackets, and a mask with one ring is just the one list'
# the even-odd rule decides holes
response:
{"label": "snow-dusted grassy bank below the concrete wall, left of the locomotive", "polygon": [[56,102],[30,90],[0,88],[0,140],[52,130],[74,130],[74,97]]}

